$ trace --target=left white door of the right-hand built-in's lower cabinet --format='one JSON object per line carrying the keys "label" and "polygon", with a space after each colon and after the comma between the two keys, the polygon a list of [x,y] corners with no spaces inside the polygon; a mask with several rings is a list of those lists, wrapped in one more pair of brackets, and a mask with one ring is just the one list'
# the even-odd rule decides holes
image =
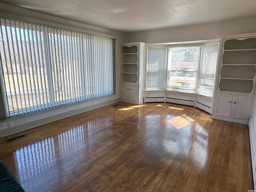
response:
{"label": "left white door of the right-hand built-in's lower cabinet", "polygon": [[215,114],[224,117],[230,117],[232,106],[232,94],[217,94],[215,104]]}

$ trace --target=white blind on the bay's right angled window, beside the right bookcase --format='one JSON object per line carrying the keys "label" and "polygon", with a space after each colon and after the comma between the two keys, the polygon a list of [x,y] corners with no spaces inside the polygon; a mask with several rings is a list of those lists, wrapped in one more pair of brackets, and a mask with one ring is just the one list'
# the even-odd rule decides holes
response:
{"label": "white blind on the bay's right angled window, beside the right bookcase", "polygon": [[218,43],[202,46],[197,94],[212,97],[217,64]]}

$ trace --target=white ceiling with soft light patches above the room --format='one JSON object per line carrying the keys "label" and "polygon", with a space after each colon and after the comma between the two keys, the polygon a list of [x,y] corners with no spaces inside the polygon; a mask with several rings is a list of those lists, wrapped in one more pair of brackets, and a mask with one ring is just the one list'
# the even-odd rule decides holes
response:
{"label": "white ceiling with soft light patches above the room", "polygon": [[121,32],[256,17],[256,0],[1,0]]}

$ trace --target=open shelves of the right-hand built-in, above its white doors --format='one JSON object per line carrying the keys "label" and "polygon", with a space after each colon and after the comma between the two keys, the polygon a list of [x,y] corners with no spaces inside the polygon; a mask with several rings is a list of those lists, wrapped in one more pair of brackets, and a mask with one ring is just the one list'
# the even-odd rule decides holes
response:
{"label": "open shelves of the right-hand built-in, above its white doors", "polygon": [[224,40],[219,90],[254,94],[255,65],[256,38]]}

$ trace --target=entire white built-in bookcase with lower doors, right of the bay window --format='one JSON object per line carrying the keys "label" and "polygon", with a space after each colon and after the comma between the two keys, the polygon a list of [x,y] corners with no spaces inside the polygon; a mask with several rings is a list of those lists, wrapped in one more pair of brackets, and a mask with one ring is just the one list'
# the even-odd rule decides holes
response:
{"label": "entire white built-in bookcase with lower doors, right of the bay window", "polygon": [[248,124],[255,84],[256,33],[222,36],[212,118]]}

